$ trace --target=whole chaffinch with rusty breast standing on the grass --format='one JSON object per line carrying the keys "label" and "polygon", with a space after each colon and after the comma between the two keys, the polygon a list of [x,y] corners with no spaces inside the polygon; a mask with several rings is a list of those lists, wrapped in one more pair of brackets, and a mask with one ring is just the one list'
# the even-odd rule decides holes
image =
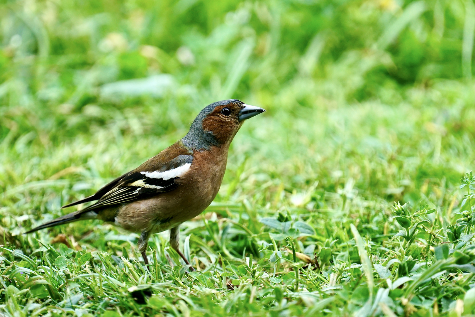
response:
{"label": "whole chaffinch with rusty breast standing on the grass", "polygon": [[112,222],[140,233],[138,249],[148,269],[146,250],[150,236],[170,230],[170,246],[190,270],[194,270],[180,251],[180,224],[198,216],[214,200],[226,170],[229,144],[246,119],[265,111],[237,99],[204,107],[179,141],[104,185],[95,194],[61,208],[95,203],[25,234],[87,219]]}

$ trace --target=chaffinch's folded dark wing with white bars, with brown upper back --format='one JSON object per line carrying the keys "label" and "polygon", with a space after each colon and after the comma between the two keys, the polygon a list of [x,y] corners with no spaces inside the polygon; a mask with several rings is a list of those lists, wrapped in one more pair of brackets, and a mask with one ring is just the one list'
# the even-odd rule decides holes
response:
{"label": "chaffinch's folded dark wing with white bars, with brown upper back", "polygon": [[[170,156],[174,158],[169,160]],[[161,192],[169,192],[178,186],[175,180],[188,172],[192,161],[193,156],[186,148],[174,144],[135,170],[125,173],[105,185],[94,195],[65,207],[98,200],[95,204],[81,210],[82,213],[124,202],[145,199]]]}

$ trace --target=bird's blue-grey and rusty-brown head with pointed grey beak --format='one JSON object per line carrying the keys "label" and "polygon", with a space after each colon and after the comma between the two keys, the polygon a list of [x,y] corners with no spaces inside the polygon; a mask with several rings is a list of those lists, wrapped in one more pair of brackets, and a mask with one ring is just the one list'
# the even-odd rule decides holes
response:
{"label": "bird's blue-grey and rusty-brown head with pointed grey beak", "polygon": [[194,150],[209,149],[211,145],[229,145],[244,120],[265,111],[237,99],[212,103],[200,111],[182,142]]}

